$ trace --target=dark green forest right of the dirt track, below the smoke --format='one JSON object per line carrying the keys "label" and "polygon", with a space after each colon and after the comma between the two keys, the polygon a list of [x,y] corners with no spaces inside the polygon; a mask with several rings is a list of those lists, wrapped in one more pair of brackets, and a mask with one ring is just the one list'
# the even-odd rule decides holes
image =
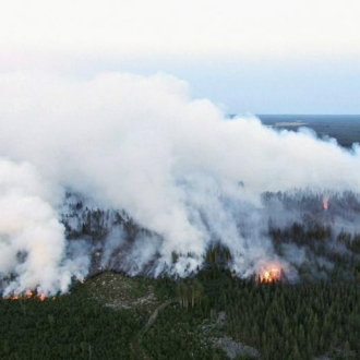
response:
{"label": "dark green forest right of the dirt track, below the smoke", "polygon": [[[187,281],[190,290],[191,280]],[[209,336],[224,335],[259,349],[263,360],[309,360],[324,355],[359,358],[359,286],[332,281],[259,284],[240,280],[218,267],[202,272],[196,281],[203,287],[202,303],[183,307],[179,287],[184,283],[178,283],[180,305],[164,310],[144,336],[152,359],[182,360],[192,353],[194,359],[227,359],[209,341]],[[225,324],[207,334],[208,324],[216,323],[214,314],[221,311]]]}

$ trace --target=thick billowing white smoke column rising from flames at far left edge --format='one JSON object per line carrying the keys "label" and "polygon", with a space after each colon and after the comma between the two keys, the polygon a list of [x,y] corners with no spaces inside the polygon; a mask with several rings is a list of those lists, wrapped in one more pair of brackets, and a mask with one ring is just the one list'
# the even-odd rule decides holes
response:
{"label": "thick billowing white smoke column rising from flames at far left edge", "polygon": [[72,276],[82,276],[79,264],[64,263],[63,226],[49,197],[31,165],[0,158],[0,274],[14,277],[4,279],[5,296],[29,289],[64,292]]}

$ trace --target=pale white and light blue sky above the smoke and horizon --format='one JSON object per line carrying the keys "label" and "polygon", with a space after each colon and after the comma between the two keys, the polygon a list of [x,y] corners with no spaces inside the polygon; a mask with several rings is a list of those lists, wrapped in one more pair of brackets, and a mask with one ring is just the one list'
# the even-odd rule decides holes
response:
{"label": "pale white and light blue sky above the smoke and horizon", "polygon": [[360,113],[358,0],[12,0],[0,72],[158,72],[229,113]]}

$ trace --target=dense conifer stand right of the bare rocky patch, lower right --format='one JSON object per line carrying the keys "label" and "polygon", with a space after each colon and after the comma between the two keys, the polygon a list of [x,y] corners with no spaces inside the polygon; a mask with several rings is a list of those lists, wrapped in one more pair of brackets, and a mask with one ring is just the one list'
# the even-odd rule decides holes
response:
{"label": "dense conifer stand right of the bare rocky patch, lower right", "polygon": [[360,355],[358,285],[259,284],[213,273],[201,277],[211,307],[226,312],[226,334],[257,348],[262,359]]}

